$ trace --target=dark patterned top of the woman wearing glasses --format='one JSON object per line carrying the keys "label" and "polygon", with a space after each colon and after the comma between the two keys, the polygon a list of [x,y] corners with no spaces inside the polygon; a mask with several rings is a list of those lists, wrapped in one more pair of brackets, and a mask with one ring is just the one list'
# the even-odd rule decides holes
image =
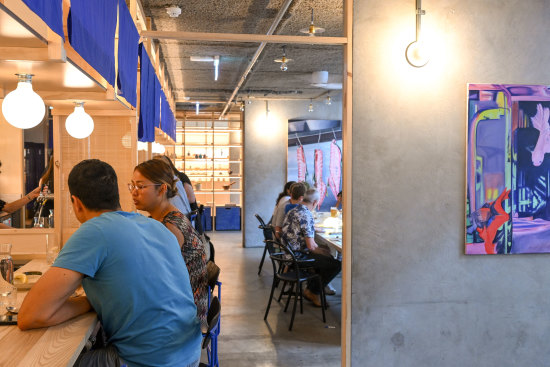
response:
{"label": "dark patterned top of the woman wearing glasses", "polygon": [[208,313],[208,273],[206,272],[206,252],[201,239],[189,219],[179,211],[175,210],[166,214],[162,223],[176,226],[183,234],[181,254],[189,272],[191,290],[197,306],[197,317],[201,322],[201,327],[204,328],[207,326],[206,315]]}

